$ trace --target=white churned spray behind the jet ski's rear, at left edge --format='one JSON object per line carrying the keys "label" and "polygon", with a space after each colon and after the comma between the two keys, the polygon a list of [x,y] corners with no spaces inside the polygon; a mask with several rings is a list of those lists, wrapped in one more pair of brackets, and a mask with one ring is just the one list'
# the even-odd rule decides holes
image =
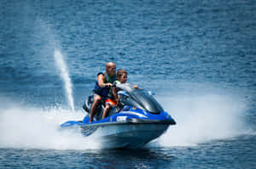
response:
{"label": "white churned spray behind the jet ski's rear, at left edge", "polygon": [[82,111],[58,108],[4,108],[0,112],[0,149],[101,149],[96,139],[84,138],[80,131],[61,130],[61,123],[83,117]]}

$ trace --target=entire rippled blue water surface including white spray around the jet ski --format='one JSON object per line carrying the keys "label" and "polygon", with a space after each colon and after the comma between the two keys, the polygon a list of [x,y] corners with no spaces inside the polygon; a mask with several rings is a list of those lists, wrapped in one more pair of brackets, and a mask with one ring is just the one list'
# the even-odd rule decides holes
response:
{"label": "entire rippled blue water surface including white spray around the jet ski", "polygon": [[[0,8],[0,168],[256,167],[255,1],[2,0]],[[60,132],[61,122],[83,118],[108,61],[154,91],[177,126],[135,150]]]}

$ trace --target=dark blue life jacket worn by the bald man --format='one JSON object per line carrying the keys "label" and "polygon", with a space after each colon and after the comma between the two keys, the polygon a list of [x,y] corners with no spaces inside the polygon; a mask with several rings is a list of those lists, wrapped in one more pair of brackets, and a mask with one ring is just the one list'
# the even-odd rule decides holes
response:
{"label": "dark blue life jacket worn by the bald man", "polygon": [[[114,75],[113,77],[109,76],[108,73],[106,71],[104,72],[99,72],[97,74],[97,76],[99,75],[103,75],[105,76],[105,82],[104,83],[112,83],[116,80],[116,75]],[[93,89],[93,92],[102,96],[102,98],[108,98],[108,97],[111,97],[112,95],[112,91],[110,90],[110,87],[100,87],[99,86],[99,82],[97,81],[96,79],[96,84],[94,85],[94,89]]]}

